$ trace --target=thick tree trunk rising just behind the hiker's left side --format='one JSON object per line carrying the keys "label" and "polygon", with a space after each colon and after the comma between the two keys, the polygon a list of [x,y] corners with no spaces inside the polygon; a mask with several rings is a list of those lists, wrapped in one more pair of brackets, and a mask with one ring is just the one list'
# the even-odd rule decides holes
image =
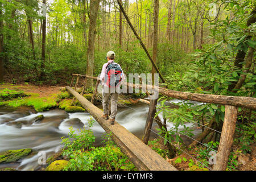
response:
{"label": "thick tree trunk rising just behind the hiker's left side", "polygon": [[[97,22],[99,6],[100,6],[100,0],[90,1],[90,13],[89,13],[90,24],[89,24],[87,68],[86,68],[86,74],[89,76],[93,76],[93,71],[94,71],[94,43],[96,38],[96,22]],[[86,86],[92,87],[93,80],[89,79]]]}

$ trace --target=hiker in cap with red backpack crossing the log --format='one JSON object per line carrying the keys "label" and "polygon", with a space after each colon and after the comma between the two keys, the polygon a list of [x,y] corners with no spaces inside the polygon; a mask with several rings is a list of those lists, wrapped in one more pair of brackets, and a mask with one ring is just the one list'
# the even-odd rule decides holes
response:
{"label": "hiker in cap with red backpack crossing the log", "polygon": [[[114,63],[115,53],[109,51],[106,54],[106,59],[108,63],[105,63],[101,71],[101,82],[102,82],[102,105],[103,105],[103,115],[102,118],[109,119],[110,124],[114,125],[115,116],[117,115],[117,101],[119,94],[119,86],[121,82],[125,79],[123,75],[122,68],[119,64]],[[109,97],[111,101],[109,116]]]}

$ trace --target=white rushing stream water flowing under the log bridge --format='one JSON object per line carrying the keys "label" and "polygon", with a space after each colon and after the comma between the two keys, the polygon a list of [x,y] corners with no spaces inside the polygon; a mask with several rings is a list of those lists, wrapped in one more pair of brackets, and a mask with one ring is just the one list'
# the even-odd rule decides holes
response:
{"label": "white rushing stream water flowing under the log bridge", "polygon": [[[172,100],[172,102],[180,101]],[[141,103],[130,107],[119,108],[116,119],[120,125],[141,138],[148,105]],[[41,122],[33,122],[34,118],[41,114],[44,115],[44,119]],[[63,147],[61,137],[68,136],[69,127],[73,126],[73,129],[79,132],[83,125],[88,125],[91,118],[91,115],[86,112],[66,113],[64,110],[53,109],[42,113],[32,113],[28,109],[11,111],[0,107],[0,152],[32,148],[32,153],[26,158],[16,163],[0,164],[0,168],[34,170],[40,167],[38,159],[42,155],[41,152],[45,152],[46,159],[58,152]],[[160,118],[162,119],[162,115]],[[187,126],[191,125],[191,123],[187,124]],[[172,124],[168,123],[167,127],[172,127]],[[154,122],[152,129],[155,130],[155,128],[156,123]],[[100,146],[101,135],[105,131],[97,122],[94,122],[92,130],[96,137],[95,146]],[[151,138],[155,137],[157,135],[151,132]]]}

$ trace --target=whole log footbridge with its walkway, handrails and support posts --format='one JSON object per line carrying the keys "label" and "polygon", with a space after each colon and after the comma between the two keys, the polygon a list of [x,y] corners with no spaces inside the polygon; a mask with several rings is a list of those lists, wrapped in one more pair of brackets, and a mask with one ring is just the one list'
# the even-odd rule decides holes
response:
{"label": "whole log footbridge with its walkway, handrails and support posts", "polygon": [[[75,88],[72,89],[71,86],[73,84],[75,76],[77,76],[77,80]],[[85,77],[81,94],[75,91],[79,83],[80,77]],[[84,94],[86,80],[88,78],[97,80],[96,88],[94,90],[91,101],[86,100],[86,98],[82,96]],[[131,162],[133,162],[137,169],[144,171],[177,171],[177,169],[174,166],[172,166],[164,158],[162,158],[162,156],[157,154],[149,146],[146,145],[146,143],[148,142],[148,137],[153,122],[152,116],[154,116],[156,110],[156,101],[148,102],[145,100],[139,100],[150,105],[144,129],[144,138],[142,141],[141,139],[137,138],[135,135],[130,133],[130,131],[126,130],[123,126],[119,125],[118,122],[115,122],[114,125],[110,125],[110,123],[106,119],[101,118],[103,114],[102,111],[98,109],[98,107],[93,105],[99,82],[99,78],[97,77],[73,74],[71,85],[66,86],[65,88],[81,103],[84,109],[87,110],[94,119],[96,119],[96,121],[101,125],[101,127],[106,131],[106,133],[112,134],[111,136],[114,142],[117,144],[119,148],[121,148],[121,151],[129,157],[129,159],[131,160]],[[127,87],[141,89],[151,88],[151,85],[131,84],[127,82]],[[156,86],[154,86],[154,89],[156,89]],[[255,110],[256,98],[178,92],[175,90],[170,90],[162,87],[157,87],[157,89],[159,93],[162,93],[164,96],[172,98],[225,105],[224,124],[222,127],[216,164],[214,164],[213,167],[213,170],[224,171],[228,165],[228,157],[233,143],[234,130],[236,129],[238,106]]]}

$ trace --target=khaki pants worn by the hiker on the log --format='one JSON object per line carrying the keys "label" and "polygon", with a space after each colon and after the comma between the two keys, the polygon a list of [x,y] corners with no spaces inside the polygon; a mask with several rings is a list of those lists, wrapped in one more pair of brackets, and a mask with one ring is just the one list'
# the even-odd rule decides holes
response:
{"label": "khaki pants worn by the hiker on the log", "polygon": [[109,114],[109,97],[110,97],[110,119],[114,119],[117,115],[117,101],[118,101],[118,93],[110,93],[110,89],[104,89],[102,92],[102,105],[103,105],[103,113]]}

